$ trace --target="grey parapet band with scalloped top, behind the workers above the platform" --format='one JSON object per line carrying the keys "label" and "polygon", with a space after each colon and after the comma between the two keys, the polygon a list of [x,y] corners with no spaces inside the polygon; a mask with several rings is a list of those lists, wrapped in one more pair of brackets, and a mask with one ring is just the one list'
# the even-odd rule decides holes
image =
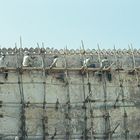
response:
{"label": "grey parapet band with scalloped top, behind the workers above the platform", "polygon": [[[114,63],[113,68],[121,66],[123,69],[134,68],[140,66],[140,49],[54,49],[54,48],[0,48],[0,54],[5,54],[5,61],[8,66],[15,67],[21,66],[24,52],[28,51],[30,55],[36,57],[33,67],[40,67],[42,59],[44,59],[44,66],[48,67],[53,61],[53,57],[58,55],[59,61],[63,60],[65,65],[65,59],[67,61],[67,67],[80,68],[85,58],[90,58],[91,62],[99,67],[99,63],[106,56],[111,63]],[[45,56],[45,57],[43,57]]]}

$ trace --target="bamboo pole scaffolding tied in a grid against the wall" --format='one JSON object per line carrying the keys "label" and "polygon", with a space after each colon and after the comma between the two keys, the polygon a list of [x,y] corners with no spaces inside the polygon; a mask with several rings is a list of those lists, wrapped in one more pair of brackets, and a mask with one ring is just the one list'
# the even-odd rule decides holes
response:
{"label": "bamboo pole scaffolding tied in a grid against the wall", "polygon": [[[82,42],[82,46],[84,46],[83,42]],[[67,48],[66,48],[67,49]],[[83,50],[84,50],[84,47],[83,47]],[[99,62],[101,63],[101,56],[100,56],[100,48],[98,46],[98,59],[99,59]],[[84,50],[85,51],[85,50]],[[50,71],[50,72],[59,72],[59,71],[63,71],[65,72],[65,76],[66,76],[66,81],[67,81],[67,84],[66,84],[66,88],[67,88],[67,98],[66,98],[66,103],[59,103],[59,106],[61,106],[61,109],[64,108],[64,105],[65,105],[65,113],[68,114],[68,118],[67,121],[66,121],[66,124],[64,124],[66,126],[66,133],[65,134],[59,134],[57,133],[57,135],[55,135],[54,137],[54,134],[50,133],[49,136],[47,137],[47,139],[49,140],[52,140],[52,137],[53,139],[67,139],[67,140],[71,140],[71,139],[84,139],[84,140],[87,140],[87,139],[91,139],[91,140],[95,140],[95,139],[104,139],[104,140],[112,140],[113,138],[118,138],[118,137],[121,137],[123,138],[123,134],[124,134],[124,138],[125,140],[129,140],[129,138],[131,137],[138,137],[137,135],[131,135],[129,134],[129,131],[128,131],[128,127],[127,127],[127,124],[128,124],[128,116],[127,116],[127,112],[126,112],[126,109],[125,108],[129,108],[129,107],[137,107],[137,106],[140,106],[140,104],[135,104],[135,101],[138,101],[138,100],[132,100],[132,99],[128,99],[125,97],[124,95],[124,87],[131,87],[131,86],[127,86],[127,85],[124,85],[124,83],[121,81],[121,76],[120,76],[120,73],[121,72],[126,72],[126,71],[129,71],[129,70],[136,70],[136,71],[139,71],[140,68],[137,67],[136,68],[136,62],[135,62],[135,56],[134,56],[134,53],[133,53],[133,49],[131,50],[132,51],[132,58],[133,58],[133,68],[131,69],[112,69],[112,71],[116,71],[118,76],[119,76],[119,84],[118,86],[112,86],[112,87],[120,87],[120,93],[118,94],[116,100],[107,100],[107,86],[106,83],[106,79],[105,79],[105,72],[106,71],[110,71],[110,68],[106,68],[106,69],[101,69],[101,68],[86,68],[85,70],[85,73],[86,73],[86,78],[87,78],[87,81],[88,81],[88,93],[86,93],[86,90],[85,90],[85,87],[87,86],[87,83],[85,83],[85,75],[82,75],[82,81],[81,83],[79,83],[78,85],[82,85],[83,86],[83,94],[84,94],[84,102],[81,101],[81,102],[72,102],[70,101],[70,93],[69,93],[69,86],[70,85],[75,85],[76,83],[70,83],[70,81],[68,80],[69,78],[69,71],[82,71],[81,68],[68,68],[67,66],[67,51],[64,53],[64,59],[65,59],[65,67],[64,68],[52,68],[50,70],[50,68],[48,67],[45,67],[45,64],[44,64],[44,56],[46,54],[43,54],[42,58],[42,62],[43,62],[43,66],[42,67],[19,67],[19,65],[17,66],[17,68],[12,68],[12,67],[6,67],[6,68],[0,68],[1,72],[5,73],[4,71],[5,70],[8,70],[8,73],[13,71],[13,72],[17,72],[18,74],[18,81],[17,82],[13,82],[13,84],[18,84],[19,85],[19,90],[20,90],[20,96],[21,96],[21,102],[2,102],[2,107],[13,107],[12,105],[15,105],[14,107],[19,107],[21,108],[21,131],[22,131],[22,138],[23,140],[26,139],[26,123],[25,123],[25,119],[28,119],[28,120],[32,120],[32,119],[36,119],[36,120],[40,120],[40,118],[26,118],[25,117],[25,110],[26,110],[26,101],[24,100],[24,91],[23,91],[23,84],[43,84],[43,88],[44,88],[44,92],[43,92],[43,101],[42,102],[30,102],[30,107],[38,107],[38,108],[42,108],[42,111],[43,111],[43,117],[45,116],[45,110],[51,108],[51,109],[55,109],[55,104],[56,103],[49,103],[46,101],[46,85],[48,84],[51,84],[51,85],[65,85],[65,83],[62,83],[62,84],[57,84],[57,83],[47,83],[46,82],[46,77],[45,77],[45,72],[46,71]],[[81,54],[82,57],[84,57],[85,59],[85,53],[82,53]],[[19,54],[20,56],[20,54]],[[116,52],[115,52],[115,59],[116,61],[118,60],[117,56],[116,56]],[[17,60],[18,60],[18,55],[17,55]],[[18,64],[18,62],[17,62]],[[43,80],[41,82],[25,82],[23,81],[23,78],[22,78],[22,75],[21,75],[21,72],[25,72],[25,71],[40,71],[42,72],[43,74]],[[103,85],[103,91],[104,91],[104,99],[90,99],[90,95],[94,94],[94,92],[91,91],[91,86],[97,86],[98,84],[92,84],[90,83],[90,80],[89,80],[89,72],[102,72],[104,73],[103,74],[103,79],[102,79],[102,85]],[[137,76],[138,78],[138,76]],[[137,79],[138,81],[138,79]],[[139,83],[139,81],[138,81]],[[3,84],[12,84],[12,82],[0,82],[1,86]],[[109,87],[109,86],[108,86]],[[110,86],[111,87],[111,86]],[[136,87],[136,86],[133,86],[133,87]],[[120,99],[121,97],[121,99]],[[89,99],[89,100],[87,100]],[[99,103],[102,103],[102,104],[99,104]],[[111,104],[109,104],[111,103]],[[83,108],[83,104],[84,104],[84,108]],[[124,112],[123,112],[123,128],[124,128],[124,133],[115,133],[115,130],[117,129],[117,127],[119,125],[117,125],[114,130],[111,131],[111,128],[110,128],[110,120],[109,120],[109,110],[110,109],[113,109],[115,106],[115,109],[118,109],[118,108],[123,108]],[[73,110],[78,110],[78,109],[81,109],[85,114],[84,114],[84,130],[83,130],[83,133],[79,133],[79,134],[74,134],[72,133],[71,134],[71,120],[70,119],[78,119],[76,117],[72,117],[70,118],[70,114]],[[88,116],[87,114],[87,110],[88,111],[93,111],[94,110],[100,110],[100,109],[103,109],[105,111],[105,113],[107,114],[106,116],[104,115],[93,115],[91,112],[90,116]],[[60,111],[60,110],[58,110]],[[4,117],[6,117],[7,115],[4,114]],[[10,117],[10,116],[9,116]],[[14,116],[11,116],[14,118]],[[94,132],[94,129],[93,129],[93,121],[94,119],[100,119],[100,118],[103,118],[105,120],[105,131],[102,132],[102,133],[97,133],[97,132]],[[51,120],[52,118],[50,118]],[[90,126],[91,128],[87,130],[87,119],[90,119]],[[45,136],[46,136],[46,128],[44,126],[44,122],[42,123],[43,124],[43,136],[42,135],[38,135],[41,137],[41,139],[43,138],[43,140],[45,140]],[[51,126],[51,125],[50,125]],[[47,127],[48,127],[48,124],[47,124]],[[55,126],[54,126],[55,127]],[[90,134],[88,133],[90,131]],[[48,133],[48,132],[47,132]],[[15,134],[16,136],[17,134]],[[120,136],[121,135],[121,136]],[[14,136],[14,135],[13,135]],[[29,137],[31,137],[34,135],[30,135],[30,133],[28,133],[28,139]],[[37,135],[36,135],[37,136]],[[35,138],[34,138],[35,139]]]}

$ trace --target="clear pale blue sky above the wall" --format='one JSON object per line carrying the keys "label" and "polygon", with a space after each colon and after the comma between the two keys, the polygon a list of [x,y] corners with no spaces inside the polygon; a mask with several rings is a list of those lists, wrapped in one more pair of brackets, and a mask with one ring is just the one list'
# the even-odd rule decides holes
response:
{"label": "clear pale blue sky above the wall", "polygon": [[140,0],[0,0],[1,47],[140,46]]}

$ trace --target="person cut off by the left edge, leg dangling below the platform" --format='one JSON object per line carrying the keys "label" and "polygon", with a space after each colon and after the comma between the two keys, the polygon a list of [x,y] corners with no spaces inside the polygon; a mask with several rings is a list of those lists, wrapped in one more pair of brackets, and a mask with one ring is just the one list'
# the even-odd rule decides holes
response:
{"label": "person cut off by the left edge, leg dangling below the platform", "polygon": [[[5,69],[7,67],[7,63],[5,63],[5,54],[0,57],[0,68]],[[8,71],[4,70],[4,78],[7,80],[8,78]]]}

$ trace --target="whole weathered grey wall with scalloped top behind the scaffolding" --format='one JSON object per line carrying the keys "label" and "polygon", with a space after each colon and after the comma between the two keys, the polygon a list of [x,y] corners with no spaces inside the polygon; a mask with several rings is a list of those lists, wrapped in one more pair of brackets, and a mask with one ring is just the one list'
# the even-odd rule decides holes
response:
{"label": "whole weathered grey wall with scalloped top behind the scaffolding", "polygon": [[[25,50],[32,67],[21,67]],[[139,50],[0,52],[8,64],[0,70],[0,139],[140,140]],[[59,66],[49,69],[56,54]],[[103,70],[104,56],[112,65]],[[95,68],[83,72],[87,57]]]}

